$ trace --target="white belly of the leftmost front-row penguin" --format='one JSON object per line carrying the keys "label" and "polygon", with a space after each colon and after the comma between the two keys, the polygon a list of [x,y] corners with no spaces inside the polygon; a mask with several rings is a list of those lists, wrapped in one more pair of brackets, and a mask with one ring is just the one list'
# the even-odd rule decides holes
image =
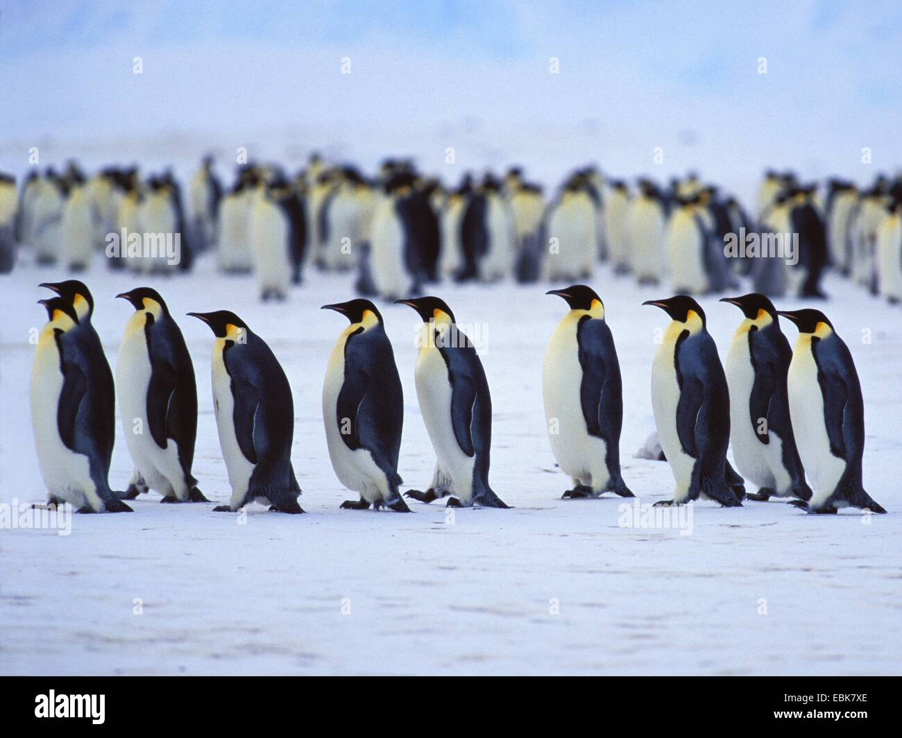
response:
{"label": "white belly of the leftmost front-row penguin", "polygon": [[69,450],[60,438],[57,421],[63,376],[60,354],[52,337],[43,338],[32,366],[32,429],[38,466],[47,491],[76,509],[102,504],[90,475],[87,457]]}

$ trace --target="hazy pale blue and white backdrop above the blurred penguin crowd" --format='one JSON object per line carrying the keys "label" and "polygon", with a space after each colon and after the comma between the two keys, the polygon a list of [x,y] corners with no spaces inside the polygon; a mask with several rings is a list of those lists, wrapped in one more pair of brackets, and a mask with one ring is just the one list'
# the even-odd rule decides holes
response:
{"label": "hazy pale blue and white backdrop above the blurred penguin crowd", "polygon": [[2,2],[0,169],[31,145],[88,161],[247,146],[364,166],[410,153],[447,179],[596,161],[865,181],[902,163],[900,60],[902,5],[880,0]]}

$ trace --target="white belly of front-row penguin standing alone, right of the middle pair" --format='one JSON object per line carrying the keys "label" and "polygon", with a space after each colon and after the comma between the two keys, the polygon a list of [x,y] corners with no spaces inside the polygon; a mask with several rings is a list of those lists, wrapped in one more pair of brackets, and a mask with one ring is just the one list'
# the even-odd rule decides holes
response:
{"label": "white belly of front-row penguin standing alone, right of the middle pair", "polygon": [[[576,339],[578,320],[565,318],[548,343],[542,370],[542,398],[548,439],[557,464],[579,484],[603,490],[609,479],[607,444],[589,435],[580,399],[583,367]],[[555,432],[557,431],[557,432]]]}

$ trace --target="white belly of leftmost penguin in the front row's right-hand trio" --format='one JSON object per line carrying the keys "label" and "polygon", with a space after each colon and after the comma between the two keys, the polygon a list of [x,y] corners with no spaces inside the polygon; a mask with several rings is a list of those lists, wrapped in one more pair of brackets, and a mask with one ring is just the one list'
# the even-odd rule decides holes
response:
{"label": "white belly of leftmost penguin in the front row's right-hand trio", "polygon": [[679,403],[679,384],[674,368],[674,344],[667,342],[658,347],[651,369],[651,410],[661,448],[676,480],[674,501],[682,502],[689,494],[692,468],[695,459],[683,450],[676,431],[676,405]]}

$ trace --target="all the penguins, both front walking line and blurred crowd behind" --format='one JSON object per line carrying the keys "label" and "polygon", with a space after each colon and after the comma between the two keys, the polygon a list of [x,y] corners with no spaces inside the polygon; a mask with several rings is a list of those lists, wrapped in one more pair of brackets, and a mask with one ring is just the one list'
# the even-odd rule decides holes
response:
{"label": "all the penguins, both front walking line and blurred crowd behind", "polygon": [[[826,198],[792,173],[769,171],[750,218],[735,198],[696,175],[660,188],[593,168],[575,171],[557,197],[511,169],[502,179],[465,176],[456,189],[424,178],[410,161],[386,161],[373,180],[318,156],[290,180],[279,167],[242,166],[225,191],[205,160],[191,180],[188,208],[170,172],[141,180],[108,168],[88,179],[32,173],[16,199],[0,176],[0,267],[20,246],[37,263],[87,268],[105,235],[118,229],[182,235],[178,263],[123,253],[111,268],[135,274],[188,272],[216,250],[220,272],[255,274],[262,300],[284,300],[310,264],[354,272],[361,297],[324,306],[349,321],[329,357],[323,418],[339,480],[359,495],[345,509],[410,512],[447,498],[450,506],[505,508],[489,482],[492,400],[482,363],[437,297],[410,298],[441,279],[492,282],[508,276],[577,282],[548,292],[568,311],[545,355],[543,397],[549,441],[570,476],[568,499],[606,492],[630,497],[621,476],[620,367],[601,298],[580,281],[599,261],[643,284],[669,279],[676,291],[646,304],[667,313],[652,363],[652,407],[663,455],[675,477],[672,501],[787,498],[808,512],[846,506],[885,512],[863,490],[861,385],[848,346],[815,309],[778,311],[771,298],[823,298],[833,268],[891,302],[902,299],[902,180],[879,177],[859,191],[841,180]],[[728,236],[794,233],[795,265],[754,254],[727,258]],[[551,254],[551,255],[549,255]],[[742,320],[721,364],[694,294],[754,292],[724,302]],[[32,374],[32,425],[49,502],[82,512],[122,512],[123,500],[153,489],[166,503],[206,503],[191,474],[197,435],[194,369],[161,295],[136,288],[117,297],[134,308],[116,366],[133,477],[124,492],[107,479],[114,431],[114,380],[91,327],[94,301],[70,280],[44,286],[49,321]],[[369,298],[394,300],[422,321],[415,383],[436,467],[425,491],[402,494],[400,378],[382,314]],[[189,313],[210,327],[211,371],[220,445],[232,495],[217,511],[251,502],[303,512],[290,461],[290,387],[272,350],[226,310]],[[779,318],[798,329],[789,346]],[[794,428],[804,428],[796,434]],[[726,458],[732,441],[737,469]],[[746,480],[757,492],[746,494]],[[809,486],[810,482],[810,486]]]}

